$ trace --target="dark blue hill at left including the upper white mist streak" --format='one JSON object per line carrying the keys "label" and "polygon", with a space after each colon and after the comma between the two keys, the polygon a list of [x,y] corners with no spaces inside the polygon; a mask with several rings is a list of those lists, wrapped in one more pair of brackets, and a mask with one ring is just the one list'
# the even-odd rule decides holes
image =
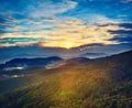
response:
{"label": "dark blue hill at left including the upper white mist streak", "polygon": [[0,77],[10,75],[20,75],[28,72],[43,68],[44,66],[63,61],[57,56],[52,57],[37,57],[37,58],[13,58],[0,65]]}

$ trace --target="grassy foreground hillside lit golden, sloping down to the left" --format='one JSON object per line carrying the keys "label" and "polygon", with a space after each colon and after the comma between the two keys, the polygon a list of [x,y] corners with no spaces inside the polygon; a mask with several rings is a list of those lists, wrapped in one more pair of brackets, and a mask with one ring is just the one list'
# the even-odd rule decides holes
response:
{"label": "grassy foreground hillside lit golden, sloping down to the left", "polygon": [[41,69],[0,96],[1,108],[132,108],[132,51]]}

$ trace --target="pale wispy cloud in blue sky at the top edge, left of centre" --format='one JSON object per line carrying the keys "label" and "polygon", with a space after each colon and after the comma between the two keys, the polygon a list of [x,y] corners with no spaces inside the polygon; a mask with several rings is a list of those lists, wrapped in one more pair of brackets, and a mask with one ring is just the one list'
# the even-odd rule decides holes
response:
{"label": "pale wispy cloud in blue sky at the top edge, left of centre", "polygon": [[31,10],[30,17],[52,17],[58,13],[64,13],[68,10],[76,8],[77,2],[70,0],[62,0],[61,2],[53,2],[52,0],[46,0],[45,2],[37,2],[37,6],[30,6]]}

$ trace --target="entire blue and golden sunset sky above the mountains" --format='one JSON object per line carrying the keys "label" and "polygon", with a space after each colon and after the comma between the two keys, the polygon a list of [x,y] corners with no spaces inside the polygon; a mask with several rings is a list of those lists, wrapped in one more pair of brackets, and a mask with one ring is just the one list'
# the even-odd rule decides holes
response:
{"label": "entire blue and golden sunset sky above the mountains", "polygon": [[132,0],[0,0],[0,60],[132,50],[131,13]]}

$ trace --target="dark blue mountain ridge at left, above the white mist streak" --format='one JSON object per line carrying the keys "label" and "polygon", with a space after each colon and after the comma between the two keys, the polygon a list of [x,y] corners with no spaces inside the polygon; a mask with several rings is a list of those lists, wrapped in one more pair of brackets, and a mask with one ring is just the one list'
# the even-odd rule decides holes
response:
{"label": "dark blue mountain ridge at left, above the white mist streak", "polygon": [[62,61],[61,57],[52,56],[52,57],[45,57],[45,58],[14,58],[9,62],[6,62],[6,64],[1,64],[0,68],[9,68],[9,67],[42,67],[50,63],[59,62]]}

